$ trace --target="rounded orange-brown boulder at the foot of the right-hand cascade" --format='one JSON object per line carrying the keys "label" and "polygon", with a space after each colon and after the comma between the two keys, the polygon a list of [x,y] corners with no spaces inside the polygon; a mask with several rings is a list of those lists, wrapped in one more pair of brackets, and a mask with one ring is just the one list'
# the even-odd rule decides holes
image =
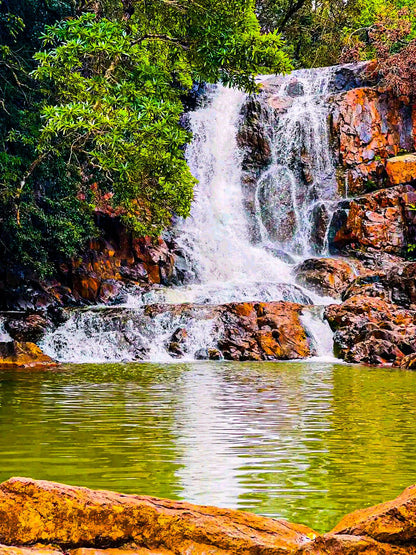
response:
{"label": "rounded orange-brown boulder at the foot of the right-hand cascade", "polygon": [[352,266],[338,258],[309,258],[296,266],[294,272],[301,285],[334,298],[341,298],[355,277]]}

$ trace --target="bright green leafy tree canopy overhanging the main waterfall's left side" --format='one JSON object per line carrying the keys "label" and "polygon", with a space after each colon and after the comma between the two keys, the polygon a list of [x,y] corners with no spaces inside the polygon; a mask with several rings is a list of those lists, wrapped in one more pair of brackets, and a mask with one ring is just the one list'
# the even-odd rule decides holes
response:
{"label": "bright green leafy tree canopy overhanging the main waterfall's left side", "polygon": [[253,92],[256,74],[291,66],[246,0],[133,5],[131,17],[86,13],[47,27],[33,73],[47,98],[38,153],[87,161],[125,221],[156,235],[189,214],[195,184],[181,95],[194,81]]}

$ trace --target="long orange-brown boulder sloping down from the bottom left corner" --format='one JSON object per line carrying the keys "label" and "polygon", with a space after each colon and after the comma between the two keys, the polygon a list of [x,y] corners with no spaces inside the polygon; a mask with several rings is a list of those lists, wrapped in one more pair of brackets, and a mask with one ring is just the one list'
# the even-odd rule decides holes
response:
{"label": "long orange-brown boulder sloping down from the bottom left corner", "polygon": [[0,485],[0,543],[6,545],[103,549],[134,542],[172,554],[284,555],[314,536],[305,526],[228,509],[28,478]]}

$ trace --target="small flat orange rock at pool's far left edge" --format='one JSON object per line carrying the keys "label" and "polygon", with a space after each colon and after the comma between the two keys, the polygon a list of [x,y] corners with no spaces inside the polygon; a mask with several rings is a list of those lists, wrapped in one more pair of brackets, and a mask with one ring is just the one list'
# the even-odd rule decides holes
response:
{"label": "small flat orange rock at pool's far left edge", "polygon": [[[0,368],[36,368],[57,366],[57,363],[31,342],[0,343]],[[0,540],[1,541],[1,540]]]}

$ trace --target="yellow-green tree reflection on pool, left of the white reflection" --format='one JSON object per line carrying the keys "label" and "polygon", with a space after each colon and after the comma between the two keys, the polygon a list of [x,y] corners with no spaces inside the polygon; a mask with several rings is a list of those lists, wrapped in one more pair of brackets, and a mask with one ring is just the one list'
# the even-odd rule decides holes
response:
{"label": "yellow-green tree reflection on pool, left of the white reflection", "polygon": [[179,366],[9,374],[0,384],[1,479],[11,475],[175,498]]}

